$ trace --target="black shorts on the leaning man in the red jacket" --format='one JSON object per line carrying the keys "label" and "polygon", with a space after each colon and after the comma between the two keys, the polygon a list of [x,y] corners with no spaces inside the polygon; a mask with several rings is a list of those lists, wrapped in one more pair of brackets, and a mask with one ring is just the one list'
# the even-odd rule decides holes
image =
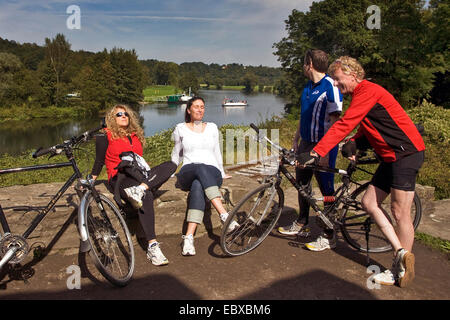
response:
{"label": "black shorts on the leaning man in the red jacket", "polygon": [[391,188],[414,191],[417,173],[424,158],[425,152],[420,151],[395,162],[382,162],[370,183],[386,193],[390,193]]}

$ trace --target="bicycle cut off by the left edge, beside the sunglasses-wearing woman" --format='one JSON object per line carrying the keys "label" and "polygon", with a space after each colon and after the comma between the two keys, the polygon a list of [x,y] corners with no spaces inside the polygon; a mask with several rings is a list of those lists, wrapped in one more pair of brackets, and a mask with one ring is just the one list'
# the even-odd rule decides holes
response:
{"label": "bicycle cut off by the left edge, beside the sunglasses-wearing woman", "polygon": [[130,232],[122,217],[122,212],[105,195],[99,193],[90,175],[83,179],[82,173],[74,157],[74,151],[90,140],[104,126],[86,131],[79,136],[70,138],[62,144],[42,149],[33,153],[33,158],[49,154],[53,156],[64,153],[67,162],[33,165],[23,168],[1,169],[1,174],[58,169],[72,167],[74,173],[68,178],[61,189],[52,197],[48,204],[38,210],[38,214],[22,235],[11,233],[5,213],[0,205],[0,270],[7,263],[16,265],[23,261],[29,253],[27,239],[45,216],[54,208],[56,202],[67,189],[78,180],[75,190],[80,198],[78,207],[78,231],[80,236],[80,252],[89,252],[100,273],[113,285],[126,286],[134,272],[134,248]]}

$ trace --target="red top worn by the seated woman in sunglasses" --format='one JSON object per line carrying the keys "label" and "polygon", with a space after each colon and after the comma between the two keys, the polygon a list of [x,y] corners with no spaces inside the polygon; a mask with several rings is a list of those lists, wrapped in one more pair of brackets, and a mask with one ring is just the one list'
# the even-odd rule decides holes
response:
{"label": "red top worn by the seated woman in sunglasses", "polygon": [[117,174],[117,170],[114,168],[119,165],[121,161],[119,155],[122,152],[132,151],[142,157],[143,149],[141,141],[134,133],[130,137],[113,139],[111,131],[106,129],[106,135],[108,138],[108,149],[105,155],[105,165],[108,180],[110,180]]}

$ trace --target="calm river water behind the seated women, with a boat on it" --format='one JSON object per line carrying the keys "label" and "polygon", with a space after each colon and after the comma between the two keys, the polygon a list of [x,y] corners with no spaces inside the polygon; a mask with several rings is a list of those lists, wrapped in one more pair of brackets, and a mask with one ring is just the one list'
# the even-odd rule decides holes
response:
{"label": "calm river water behind the seated women, with a boat on it", "polygon": [[[224,124],[262,122],[272,116],[282,115],[285,101],[268,93],[246,95],[234,90],[200,90],[205,99],[204,121]],[[247,107],[222,107],[224,98],[247,100]],[[146,136],[174,127],[184,119],[186,105],[148,104],[140,108]],[[100,124],[98,119],[48,120],[35,119],[26,122],[4,122],[0,124],[0,154],[20,154],[38,147],[48,147],[62,142]]]}

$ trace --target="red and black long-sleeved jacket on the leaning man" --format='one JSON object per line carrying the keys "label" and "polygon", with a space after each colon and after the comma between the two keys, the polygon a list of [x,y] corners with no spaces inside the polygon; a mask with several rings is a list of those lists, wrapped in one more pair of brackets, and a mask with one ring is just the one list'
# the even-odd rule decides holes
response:
{"label": "red and black long-sleeved jacket on the leaning man", "polygon": [[363,80],[353,91],[344,116],[331,126],[314,151],[322,157],[327,155],[358,124],[353,139],[364,135],[385,162],[425,150],[422,136],[397,100],[383,87]]}

